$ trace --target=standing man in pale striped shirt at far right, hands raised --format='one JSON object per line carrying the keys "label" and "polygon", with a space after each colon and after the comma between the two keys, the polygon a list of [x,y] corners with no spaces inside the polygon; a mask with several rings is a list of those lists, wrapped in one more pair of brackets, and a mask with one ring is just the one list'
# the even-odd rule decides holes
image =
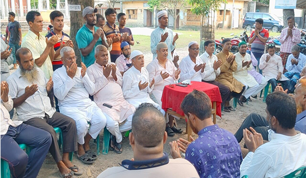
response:
{"label": "standing man in pale striped shirt at far right, hands raised", "polygon": [[287,72],[286,64],[288,56],[291,54],[291,48],[301,41],[301,33],[299,29],[294,26],[294,16],[289,16],[287,18],[288,27],[283,29],[281,33],[281,38],[279,42],[281,42],[281,54],[279,56],[282,57],[282,62],[284,66],[283,73]]}

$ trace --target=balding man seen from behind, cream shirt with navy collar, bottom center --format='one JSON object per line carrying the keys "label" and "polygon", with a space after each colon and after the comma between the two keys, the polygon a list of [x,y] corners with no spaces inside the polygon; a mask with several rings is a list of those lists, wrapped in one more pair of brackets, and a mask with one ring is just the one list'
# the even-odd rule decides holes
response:
{"label": "balding man seen from behind, cream shirt with navy collar, bottom center", "polygon": [[168,154],[163,153],[167,141],[165,127],[163,113],[150,103],[141,104],[133,115],[132,133],[129,135],[134,158],[123,160],[120,167],[108,168],[97,178],[199,177],[189,161],[169,159]]}

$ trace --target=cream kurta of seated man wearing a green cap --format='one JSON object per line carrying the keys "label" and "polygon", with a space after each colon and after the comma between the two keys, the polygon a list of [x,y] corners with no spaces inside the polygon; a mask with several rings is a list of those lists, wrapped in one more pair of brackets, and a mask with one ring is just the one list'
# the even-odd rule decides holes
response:
{"label": "cream kurta of seated man wearing a green cap", "polygon": [[253,69],[253,66],[250,65],[250,67],[242,67],[242,61],[249,62],[251,61],[251,55],[248,53],[245,53],[245,56],[243,57],[239,52],[234,54],[236,56],[235,60],[237,63],[237,70],[233,72],[234,78],[236,80],[240,81],[243,84],[247,84],[248,87],[256,86],[258,83],[254,77],[252,77],[250,74],[248,74],[247,71],[251,71]]}

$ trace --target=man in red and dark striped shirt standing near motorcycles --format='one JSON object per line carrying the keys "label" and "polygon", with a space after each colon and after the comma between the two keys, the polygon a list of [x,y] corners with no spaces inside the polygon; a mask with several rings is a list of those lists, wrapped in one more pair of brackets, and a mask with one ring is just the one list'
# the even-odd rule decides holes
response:
{"label": "man in red and dark striped shirt standing near motorcycles", "polygon": [[[258,61],[261,56],[264,54],[265,45],[269,38],[269,32],[267,29],[263,28],[264,20],[262,18],[258,18],[255,20],[255,31],[253,31],[250,35],[249,43],[251,45],[251,51]],[[259,69],[259,73],[262,71]]]}

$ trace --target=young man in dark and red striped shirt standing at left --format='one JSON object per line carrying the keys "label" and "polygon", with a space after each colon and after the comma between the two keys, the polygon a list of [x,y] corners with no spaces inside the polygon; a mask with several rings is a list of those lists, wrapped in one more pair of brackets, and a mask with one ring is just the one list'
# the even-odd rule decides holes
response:
{"label": "young man in dark and red striped shirt standing at left", "polygon": [[54,35],[59,36],[59,41],[53,46],[55,50],[54,60],[52,62],[53,71],[63,66],[61,61],[60,51],[65,46],[70,46],[73,48],[72,41],[69,35],[63,32],[64,27],[64,14],[60,11],[53,11],[50,13],[50,23],[53,25],[53,30],[46,35],[49,39]]}

